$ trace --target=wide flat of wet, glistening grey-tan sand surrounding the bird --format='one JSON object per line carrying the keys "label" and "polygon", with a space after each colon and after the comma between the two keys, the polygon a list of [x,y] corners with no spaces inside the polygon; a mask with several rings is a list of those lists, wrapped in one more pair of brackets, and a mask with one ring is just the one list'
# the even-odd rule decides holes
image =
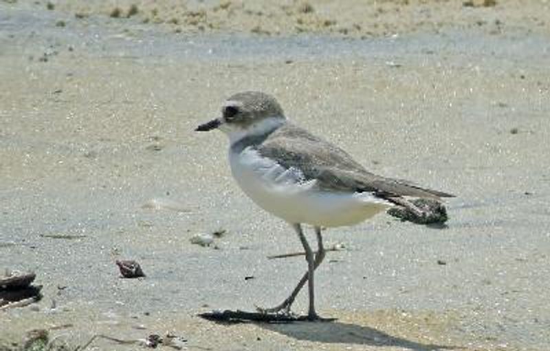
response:
{"label": "wide flat of wet, glistening grey-tan sand surrounding the bird", "polygon": [[[244,20],[174,33],[143,23],[151,4],[121,19],[98,3],[83,18],[69,1],[0,3],[0,268],[36,271],[44,292],[39,304],[0,311],[0,349],[34,328],[72,347],[94,334],[171,332],[190,350],[548,349],[545,1],[410,1],[401,13],[432,9],[437,32],[387,21],[395,27],[370,39],[250,34]],[[331,8],[313,6],[307,16]],[[352,1],[331,14],[340,23],[361,11],[371,8]],[[473,14],[505,25],[460,25]],[[277,304],[306,268],[267,259],[298,251],[297,238],[236,187],[227,140],[192,131],[244,89],[274,94],[289,118],[375,173],[459,195],[446,228],[381,215],[327,231],[328,245],[347,246],[316,275],[318,309],[336,322],[196,317]],[[144,209],[151,199],[180,211]],[[217,249],[190,244],[219,228]],[[147,277],[120,279],[115,259],[137,259]],[[306,307],[300,295],[295,310]],[[100,339],[87,350],[135,348]]]}

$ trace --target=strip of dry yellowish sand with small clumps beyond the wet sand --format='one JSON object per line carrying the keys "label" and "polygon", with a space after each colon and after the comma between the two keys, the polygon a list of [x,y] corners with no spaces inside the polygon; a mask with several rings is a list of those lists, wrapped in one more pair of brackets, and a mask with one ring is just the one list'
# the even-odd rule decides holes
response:
{"label": "strip of dry yellowish sand with small clumps beyond the wet sand", "polygon": [[548,34],[547,0],[51,0],[21,1],[62,10],[69,19],[97,14],[154,23],[173,32],[252,32],[262,35],[315,32],[346,37],[437,33],[476,28],[499,34],[526,28]]}

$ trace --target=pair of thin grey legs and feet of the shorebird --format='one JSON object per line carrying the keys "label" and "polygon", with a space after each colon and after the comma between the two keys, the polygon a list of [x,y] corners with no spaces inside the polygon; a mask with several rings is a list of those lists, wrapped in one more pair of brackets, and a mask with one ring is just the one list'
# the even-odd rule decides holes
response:
{"label": "pair of thin grey legs and feet of the shorebird", "polygon": [[[300,237],[300,241],[302,242],[302,244],[305,242],[306,245],[307,245],[307,247],[304,245],[304,249],[305,249],[305,252],[306,252],[306,259],[307,259],[307,262],[308,262],[308,270],[303,275],[302,279],[300,279],[300,281],[298,281],[298,285],[296,285],[296,288],[294,288],[294,290],[292,290],[292,293],[289,295],[289,297],[287,297],[285,299],[285,301],[283,301],[282,304],[280,304],[278,306],[275,306],[274,308],[257,308],[260,312],[273,313],[273,312],[280,312],[281,310],[283,310],[285,313],[290,313],[290,307],[294,303],[294,299],[296,299],[296,296],[298,295],[298,292],[300,292],[300,290],[303,288],[306,281],[309,280],[310,272],[311,272],[311,277],[313,277],[313,270],[315,270],[321,264],[322,260],[325,258],[325,248],[322,245],[321,228],[316,226],[315,227],[315,232],[316,232],[316,235],[317,235],[318,252],[315,255],[313,270],[309,269],[309,267],[310,267],[309,262],[311,261],[311,257],[313,255],[313,252],[311,251],[311,248],[309,247],[309,244],[305,240],[305,236],[303,234],[302,227],[300,226],[300,224],[294,224],[293,227],[294,227],[294,230],[296,231],[296,233],[298,233],[298,236]],[[308,251],[309,251],[310,259],[308,259]],[[311,281],[313,281],[313,279],[311,279]],[[311,286],[312,285],[313,284],[311,284]],[[314,308],[314,299],[312,299],[313,294],[314,294],[314,290],[310,289],[309,294],[310,295],[309,295],[308,318],[309,319],[317,319],[318,317],[315,313],[315,308]],[[311,313],[311,312],[313,312],[313,313]]]}

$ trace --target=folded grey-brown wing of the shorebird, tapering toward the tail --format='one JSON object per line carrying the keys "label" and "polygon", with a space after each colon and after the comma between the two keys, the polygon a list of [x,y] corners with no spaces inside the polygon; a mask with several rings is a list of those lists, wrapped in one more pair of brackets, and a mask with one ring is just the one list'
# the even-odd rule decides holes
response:
{"label": "folded grey-brown wing of the shorebird, tapering toward the tail", "polygon": [[346,151],[295,125],[277,129],[256,149],[287,169],[299,169],[306,180],[317,180],[322,189],[369,191],[388,200],[401,196],[436,199],[454,196],[370,173]]}

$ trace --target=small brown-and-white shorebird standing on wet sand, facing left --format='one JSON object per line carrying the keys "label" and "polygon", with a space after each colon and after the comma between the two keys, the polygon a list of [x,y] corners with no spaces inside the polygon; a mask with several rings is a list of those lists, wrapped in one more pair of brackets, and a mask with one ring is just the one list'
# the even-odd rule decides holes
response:
{"label": "small brown-and-white shorebird standing on wet sand, facing left", "polygon": [[[288,222],[305,250],[307,272],[296,288],[283,303],[259,308],[260,312],[289,314],[307,282],[307,318],[319,319],[314,271],[325,258],[322,228],[358,224],[394,205],[423,215],[408,197],[440,200],[453,196],[366,171],[346,151],[289,122],[277,100],[263,92],[230,96],[223,103],[221,117],[195,130],[212,129],[229,137],[229,162],[239,187],[262,209]],[[302,224],[314,226],[317,252],[311,249]]]}

